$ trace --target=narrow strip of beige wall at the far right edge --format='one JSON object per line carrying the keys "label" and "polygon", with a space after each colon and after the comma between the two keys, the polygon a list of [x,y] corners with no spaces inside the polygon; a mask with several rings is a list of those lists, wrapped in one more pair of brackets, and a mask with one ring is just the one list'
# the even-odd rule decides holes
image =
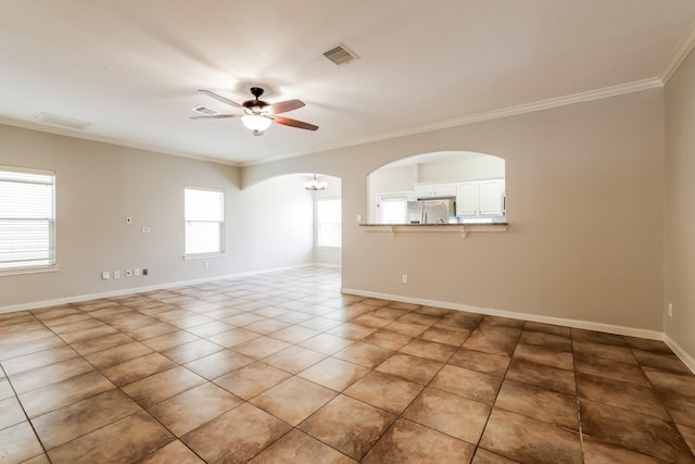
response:
{"label": "narrow strip of beige wall at the far right edge", "polygon": [[[666,85],[665,316],[667,337],[695,359],[695,55]],[[694,364],[695,366],[695,364]],[[695,368],[695,367],[694,367]]]}

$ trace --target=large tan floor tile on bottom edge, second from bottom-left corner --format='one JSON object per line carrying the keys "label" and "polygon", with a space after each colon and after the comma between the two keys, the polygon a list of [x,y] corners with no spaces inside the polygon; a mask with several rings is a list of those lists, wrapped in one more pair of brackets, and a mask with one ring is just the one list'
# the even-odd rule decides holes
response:
{"label": "large tan floor tile on bottom edge, second from bottom-left corner", "polygon": [[48,452],[54,463],[135,462],[174,440],[146,412],[139,412]]}

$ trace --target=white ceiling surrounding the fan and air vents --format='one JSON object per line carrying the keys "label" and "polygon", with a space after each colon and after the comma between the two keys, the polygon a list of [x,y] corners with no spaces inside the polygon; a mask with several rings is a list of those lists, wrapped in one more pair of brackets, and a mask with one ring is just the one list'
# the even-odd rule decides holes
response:
{"label": "white ceiling surrounding the fan and air vents", "polygon": [[[694,23],[693,0],[0,0],[0,122],[250,164],[656,87]],[[253,85],[320,128],[190,118]]]}

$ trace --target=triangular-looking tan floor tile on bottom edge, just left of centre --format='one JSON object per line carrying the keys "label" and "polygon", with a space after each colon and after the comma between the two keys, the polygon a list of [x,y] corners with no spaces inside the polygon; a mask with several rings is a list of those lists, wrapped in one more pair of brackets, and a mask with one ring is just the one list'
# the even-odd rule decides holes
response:
{"label": "triangular-looking tan floor tile on bottom edge, just left of centre", "polygon": [[348,457],[299,429],[293,429],[261,454],[249,461],[250,464],[294,464],[309,462],[321,464],[357,463],[357,461]]}

